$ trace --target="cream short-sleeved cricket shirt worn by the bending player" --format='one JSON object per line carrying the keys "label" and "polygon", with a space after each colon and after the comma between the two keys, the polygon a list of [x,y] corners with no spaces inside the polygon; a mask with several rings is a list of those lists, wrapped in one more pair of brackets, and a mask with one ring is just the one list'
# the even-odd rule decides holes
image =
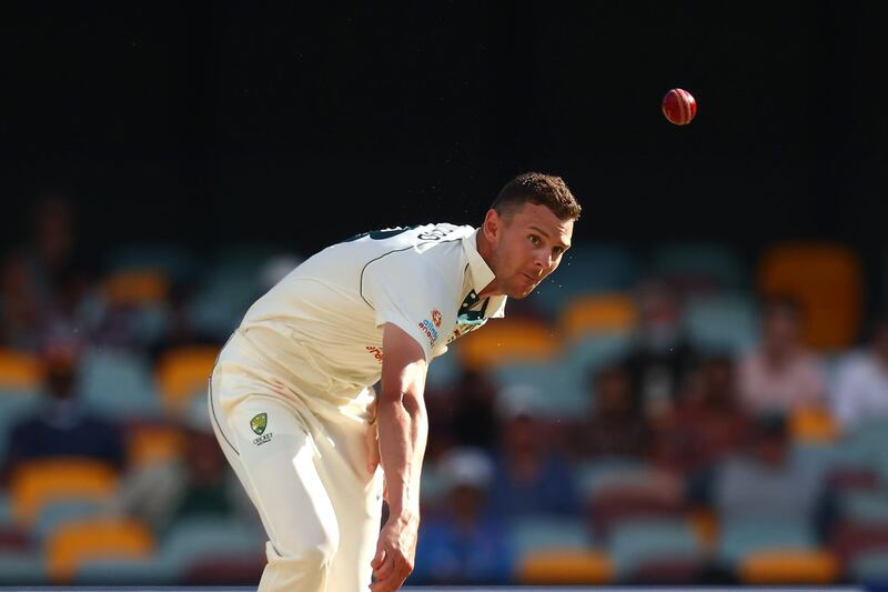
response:
{"label": "cream short-sleeved cricket shirt worn by the bending player", "polygon": [[260,298],[238,334],[263,361],[292,373],[303,385],[296,391],[364,415],[367,388],[382,371],[385,323],[412,335],[431,362],[457,337],[503,317],[506,297],[477,295],[494,274],[476,232],[425,224],[329,247]]}

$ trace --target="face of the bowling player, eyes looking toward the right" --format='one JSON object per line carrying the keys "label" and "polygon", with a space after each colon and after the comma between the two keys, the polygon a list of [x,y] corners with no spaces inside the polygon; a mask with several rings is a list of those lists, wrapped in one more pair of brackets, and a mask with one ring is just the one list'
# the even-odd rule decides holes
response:
{"label": "face of the bowling player, eyes looking toward the right", "polygon": [[494,245],[491,268],[500,291],[509,298],[526,297],[555,271],[574,233],[573,220],[559,220],[535,203],[503,217],[491,210],[484,227]]}

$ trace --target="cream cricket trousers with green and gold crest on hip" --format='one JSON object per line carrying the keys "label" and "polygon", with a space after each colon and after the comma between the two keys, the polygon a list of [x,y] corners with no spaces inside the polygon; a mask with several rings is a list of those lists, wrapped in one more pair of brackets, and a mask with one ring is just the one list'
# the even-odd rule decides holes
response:
{"label": "cream cricket trousers with green and gold crest on hip", "polygon": [[259,590],[366,590],[383,486],[366,468],[371,427],[310,410],[315,385],[296,382],[299,370],[282,373],[235,333],[210,379],[213,431],[269,536]]}

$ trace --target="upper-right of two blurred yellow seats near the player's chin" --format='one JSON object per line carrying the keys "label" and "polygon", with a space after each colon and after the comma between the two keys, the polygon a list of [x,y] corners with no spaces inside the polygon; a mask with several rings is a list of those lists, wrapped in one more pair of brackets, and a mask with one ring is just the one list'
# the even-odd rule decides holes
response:
{"label": "upper-right of two blurred yellow seats near the player's chin", "polygon": [[628,332],[638,321],[635,302],[624,294],[596,294],[572,301],[558,318],[558,330],[568,340],[596,331]]}

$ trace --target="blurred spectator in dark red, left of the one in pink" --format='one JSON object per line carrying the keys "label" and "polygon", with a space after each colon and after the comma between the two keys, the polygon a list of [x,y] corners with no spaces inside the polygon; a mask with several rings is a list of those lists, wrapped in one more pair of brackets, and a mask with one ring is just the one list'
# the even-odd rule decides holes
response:
{"label": "blurred spectator in dark red, left of the one in pink", "polygon": [[708,503],[712,471],[743,446],[749,422],[736,392],[734,360],[703,359],[677,408],[657,430],[656,463],[687,479],[688,498]]}

